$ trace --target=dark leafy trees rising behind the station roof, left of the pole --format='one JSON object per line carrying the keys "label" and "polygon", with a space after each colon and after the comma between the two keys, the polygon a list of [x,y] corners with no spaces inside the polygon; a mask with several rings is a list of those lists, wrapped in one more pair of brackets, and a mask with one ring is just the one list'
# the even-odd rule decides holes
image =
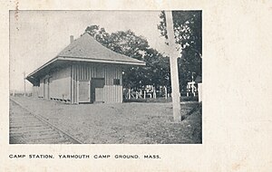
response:
{"label": "dark leafy trees rising behind the station roof, left of the pole", "polygon": [[113,52],[127,55],[146,62],[144,67],[131,67],[124,70],[123,85],[141,88],[144,85],[170,85],[169,59],[152,49],[148,41],[131,30],[107,33],[98,25],[90,25],[85,30],[99,43]]}

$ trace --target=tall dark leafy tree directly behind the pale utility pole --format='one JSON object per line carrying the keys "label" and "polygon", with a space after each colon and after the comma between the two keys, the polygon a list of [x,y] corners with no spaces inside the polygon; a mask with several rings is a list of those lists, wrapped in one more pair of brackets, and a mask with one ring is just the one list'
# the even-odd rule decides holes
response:
{"label": "tall dark leafy tree directly behind the pale utility pole", "polygon": [[[180,90],[185,90],[194,74],[202,75],[202,22],[200,11],[172,11],[176,43],[180,44],[182,56],[178,60]],[[167,37],[165,13],[160,14],[160,34]]]}

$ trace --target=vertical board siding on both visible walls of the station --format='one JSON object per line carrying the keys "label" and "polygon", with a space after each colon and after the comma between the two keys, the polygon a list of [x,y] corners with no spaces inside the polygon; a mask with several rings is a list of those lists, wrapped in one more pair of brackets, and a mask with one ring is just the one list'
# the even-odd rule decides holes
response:
{"label": "vertical board siding on both visible walls of the station", "polygon": [[[74,63],[70,67],[53,72],[50,76],[49,99],[70,100],[78,103],[77,81],[92,81],[92,78],[104,78],[105,85],[99,100],[104,102],[122,102],[122,72],[121,66],[111,64]],[[34,89],[35,94],[44,98],[44,79],[40,79],[40,86]],[[113,85],[113,80],[119,79],[120,85]],[[47,83],[46,83],[47,84]]]}

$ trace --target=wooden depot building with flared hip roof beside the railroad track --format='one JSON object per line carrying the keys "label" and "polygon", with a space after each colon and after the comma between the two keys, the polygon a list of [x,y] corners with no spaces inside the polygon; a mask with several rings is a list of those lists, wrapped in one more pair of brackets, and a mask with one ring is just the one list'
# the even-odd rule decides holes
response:
{"label": "wooden depot building with flared hip roof beside the railroad track", "polygon": [[122,102],[122,69],[145,62],[112,52],[89,33],[70,39],[61,53],[26,77],[34,95],[72,104]]}

